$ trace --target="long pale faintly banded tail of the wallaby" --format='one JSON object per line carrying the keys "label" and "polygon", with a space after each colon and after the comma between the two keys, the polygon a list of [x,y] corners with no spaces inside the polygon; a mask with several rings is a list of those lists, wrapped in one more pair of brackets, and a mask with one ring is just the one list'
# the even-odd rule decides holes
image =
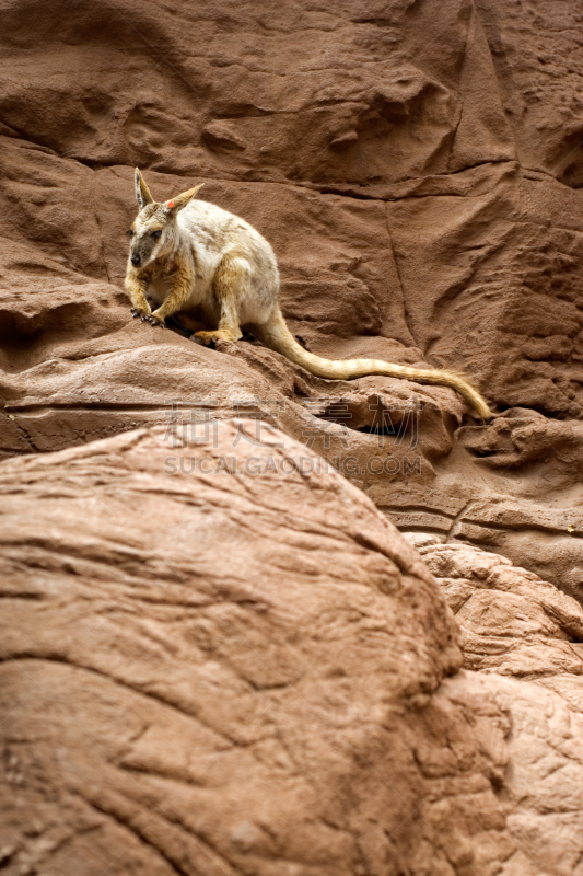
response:
{"label": "long pale faintly banded tail of the wallaby", "polygon": [[329,380],[350,380],[366,374],[385,374],[386,377],[416,380],[419,383],[436,383],[457,390],[482,419],[491,419],[493,416],[486,400],[469,380],[453,371],[442,371],[436,368],[410,368],[407,365],[394,365],[380,359],[323,359],[322,356],[308,353],[288,328],[279,307],[272,312],[269,321],[260,326],[258,334],[266,346],[283,354],[292,362],[301,365],[316,377],[325,377]]}

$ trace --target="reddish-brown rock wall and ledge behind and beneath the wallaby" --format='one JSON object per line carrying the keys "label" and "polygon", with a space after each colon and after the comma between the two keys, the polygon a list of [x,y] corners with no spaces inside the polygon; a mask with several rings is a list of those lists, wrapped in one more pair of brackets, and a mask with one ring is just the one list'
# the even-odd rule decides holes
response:
{"label": "reddish-brown rock wall and ledge behind and beneath the wallaby", "polygon": [[[173,402],[254,411],[399,527],[455,530],[581,599],[583,60],[576,5],[549,9],[13,3],[2,454],[165,422]],[[159,198],[205,182],[267,235],[308,348],[466,371],[500,416],[454,445],[448,390],[322,381],[249,339],[198,350],[132,324],[135,164]]]}

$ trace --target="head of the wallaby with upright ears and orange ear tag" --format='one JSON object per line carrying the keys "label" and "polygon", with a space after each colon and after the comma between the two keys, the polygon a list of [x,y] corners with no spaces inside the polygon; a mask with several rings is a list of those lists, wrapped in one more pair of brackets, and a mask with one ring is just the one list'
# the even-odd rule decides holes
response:
{"label": "head of the wallaby with upright ears and orange ear tag", "polygon": [[176,217],[202,185],[203,183],[200,183],[164,204],[158,204],[136,168],[136,200],[140,210],[128,232],[129,261],[133,267],[145,267],[155,258],[166,257],[173,253],[178,243]]}

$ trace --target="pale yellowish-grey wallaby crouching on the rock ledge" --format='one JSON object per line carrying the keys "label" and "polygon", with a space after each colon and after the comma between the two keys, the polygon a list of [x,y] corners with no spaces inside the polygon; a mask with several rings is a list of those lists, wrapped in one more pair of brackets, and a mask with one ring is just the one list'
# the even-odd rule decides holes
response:
{"label": "pale yellowish-grey wallaby crouching on the rock ledge", "polygon": [[[377,359],[323,359],[304,349],[281,313],[279,273],[269,243],[244,219],[202,200],[189,188],[158,204],[136,169],[139,212],[129,232],[130,252],[125,286],[132,313],[154,325],[177,311],[199,308],[217,328],[197,332],[203,344],[238,341],[249,326],[266,346],[317,377],[348,380],[365,374],[407,378],[452,387],[480,417],[492,416],[488,404],[462,374],[411,368]],[[152,312],[147,300],[156,302]]]}

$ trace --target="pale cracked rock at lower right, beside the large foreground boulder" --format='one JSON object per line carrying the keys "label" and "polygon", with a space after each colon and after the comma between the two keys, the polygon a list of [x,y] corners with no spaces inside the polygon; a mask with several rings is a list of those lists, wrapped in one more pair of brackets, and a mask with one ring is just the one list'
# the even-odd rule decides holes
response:
{"label": "pale cracked rock at lower right, beside the large foreground boulder", "polygon": [[504,557],[416,541],[459,622],[465,665],[487,673],[480,683],[512,728],[509,829],[543,871],[581,874],[583,610]]}

